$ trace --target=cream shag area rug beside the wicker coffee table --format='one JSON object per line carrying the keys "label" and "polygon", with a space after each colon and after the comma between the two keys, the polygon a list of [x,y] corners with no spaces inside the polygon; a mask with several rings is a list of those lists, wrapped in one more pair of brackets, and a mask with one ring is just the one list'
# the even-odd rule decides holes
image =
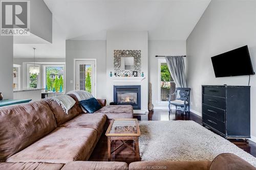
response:
{"label": "cream shag area rug beside the wicker coffee table", "polygon": [[213,160],[235,154],[256,166],[256,158],[194,121],[140,121],[141,161]]}

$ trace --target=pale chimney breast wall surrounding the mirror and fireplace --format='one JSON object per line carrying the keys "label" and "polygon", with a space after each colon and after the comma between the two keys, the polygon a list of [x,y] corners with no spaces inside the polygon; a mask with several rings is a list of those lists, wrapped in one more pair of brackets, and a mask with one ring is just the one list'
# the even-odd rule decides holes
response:
{"label": "pale chimney breast wall surrounding the mirror and fireplace", "polygon": [[[141,84],[141,110],[148,104],[148,33],[147,31],[108,31],[106,33],[106,99],[113,102],[114,50],[141,50],[141,71],[145,79]],[[136,85],[136,84],[134,84]]]}

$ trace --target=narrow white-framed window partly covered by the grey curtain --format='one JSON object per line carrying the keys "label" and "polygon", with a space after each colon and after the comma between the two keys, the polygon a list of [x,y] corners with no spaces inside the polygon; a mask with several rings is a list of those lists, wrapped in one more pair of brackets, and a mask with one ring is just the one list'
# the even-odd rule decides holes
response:
{"label": "narrow white-framed window partly covered by the grey curtain", "polygon": [[[167,102],[169,98],[169,94],[173,94],[175,92],[175,82],[170,75],[170,71],[168,69],[167,63],[165,59],[159,59],[159,101]],[[175,100],[175,95],[172,96],[172,101]]]}

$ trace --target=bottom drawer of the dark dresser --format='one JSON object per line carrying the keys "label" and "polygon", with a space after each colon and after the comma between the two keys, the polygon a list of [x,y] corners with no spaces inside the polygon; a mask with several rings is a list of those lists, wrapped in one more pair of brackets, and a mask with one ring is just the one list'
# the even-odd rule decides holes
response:
{"label": "bottom drawer of the dark dresser", "polygon": [[225,124],[223,122],[221,122],[220,120],[218,120],[214,117],[211,117],[207,114],[203,114],[202,121],[204,124],[210,126],[211,128],[218,130],[219,132],[223,133],[224,135],[226,134],[225,133]]}

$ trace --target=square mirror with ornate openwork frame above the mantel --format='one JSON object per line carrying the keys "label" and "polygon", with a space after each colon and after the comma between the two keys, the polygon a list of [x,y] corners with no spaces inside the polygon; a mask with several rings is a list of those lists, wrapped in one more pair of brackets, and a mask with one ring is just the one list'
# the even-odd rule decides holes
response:
{"label": "square mirror with ornate openwork frame above the mantel", "polygon": [[117,77],[141,75],[141,50],[114,50],[114,67]]}

